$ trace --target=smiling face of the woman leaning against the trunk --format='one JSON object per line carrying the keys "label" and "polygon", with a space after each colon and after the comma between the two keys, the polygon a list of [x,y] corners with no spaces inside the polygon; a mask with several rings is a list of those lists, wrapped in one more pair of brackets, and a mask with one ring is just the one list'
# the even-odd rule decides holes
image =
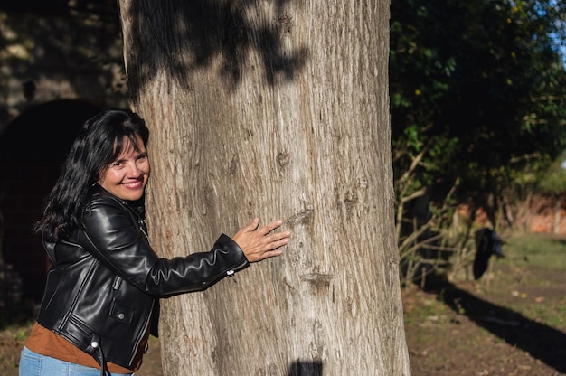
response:
{"label": "smiling face of the woman leaning against the trunk", "polygon": [[100,173],[99,184],[119,199],[136,201],[146,189],[149,159],[140,136],[137,136],[138,151],[127,138],[124,139],[124,146],[116,161],[108,164]]}

